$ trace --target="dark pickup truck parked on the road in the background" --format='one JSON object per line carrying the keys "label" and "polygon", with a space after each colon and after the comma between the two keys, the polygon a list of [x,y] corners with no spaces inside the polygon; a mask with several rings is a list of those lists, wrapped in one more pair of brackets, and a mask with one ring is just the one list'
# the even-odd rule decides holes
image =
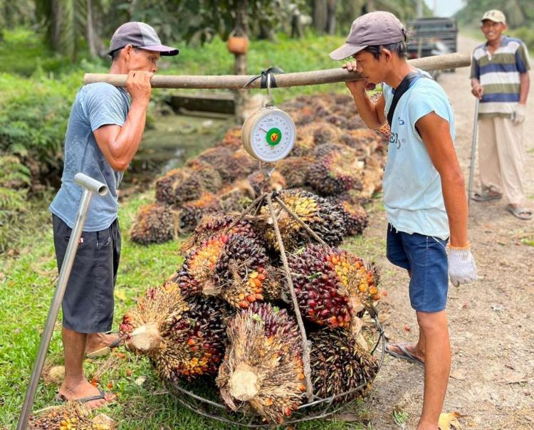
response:
{"label": "dark pickup truck parked on the road in the background", "polygon": [[408,58],[456,52],[458,28],[454,18],[437,16],[408,21]]}

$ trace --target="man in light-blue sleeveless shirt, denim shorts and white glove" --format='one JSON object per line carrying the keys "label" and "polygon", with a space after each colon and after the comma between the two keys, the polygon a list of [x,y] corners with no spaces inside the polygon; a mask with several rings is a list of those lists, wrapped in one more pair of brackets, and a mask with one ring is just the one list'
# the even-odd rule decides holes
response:
{"label": "man in light-blue sleeveless shirt, denim shorts and white glove", "polygon": [[[449,280],[476,280],[467,241],[467,199],[456,151],[454,114],[443,89],[406,61],[402,23],[372,12],[352,23],[347,43],[330,53],[362,79],[347,82],[368,127],[389,123],[384,171],[387,258],[407,269],[419,340],[387,345],[387,352],[424,366],[424,401],[417,429],[437,430],[451,362],[445,312]],[[366,88],[382,84],[376,103]]]}

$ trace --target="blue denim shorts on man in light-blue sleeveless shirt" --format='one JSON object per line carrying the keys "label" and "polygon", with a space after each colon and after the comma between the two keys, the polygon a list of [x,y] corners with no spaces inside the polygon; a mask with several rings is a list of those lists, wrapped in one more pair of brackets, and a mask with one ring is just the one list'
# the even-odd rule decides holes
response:
{"label": "blue denim shorts on man in light-blue sleeveless shirt", "polygon": [[410,303],[419,312],[445,309],[449,288],[446,243],[434,236],[408,234],[387,226],[387,259],[410,272]]}

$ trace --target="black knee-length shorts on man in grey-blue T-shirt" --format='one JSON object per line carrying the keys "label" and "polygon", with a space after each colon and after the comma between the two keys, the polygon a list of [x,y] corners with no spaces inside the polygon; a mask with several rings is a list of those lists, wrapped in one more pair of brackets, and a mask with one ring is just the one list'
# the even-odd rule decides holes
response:
{"label": "black knee-length shorts on man in grey-blue T-shirt", "polygon": [[[61,270],[72,229],[56,215],[52,215],[52,223],[58,270]],[[80,333],[111,330],[119,259],[117,219],[108,229],[82,232],[63,297],[63,327]]]}

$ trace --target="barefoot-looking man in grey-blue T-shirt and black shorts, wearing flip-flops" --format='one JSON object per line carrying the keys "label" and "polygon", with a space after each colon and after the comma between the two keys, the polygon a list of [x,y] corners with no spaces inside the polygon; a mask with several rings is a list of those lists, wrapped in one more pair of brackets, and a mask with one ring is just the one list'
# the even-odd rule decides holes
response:
{"label": "barefoot-looking man in grey-blue T-shirt and black shorts, wearing flip-flops", "polygon": [[115,399],[88,382],[83,357],[109,352],[119,343],[117,335],[106,333],[113,321],[120,258],[117,188],[145,130],[150,78],[157,71],[159,56],[177,53],[176,48],[162,45],[151,26],[123,24],[111,38],[109,54],[110,73],[127,74],[126,89],[108,83],[84,85],[70,111],[61,189],[50,205],[60,270],[82,192],[74,175],[83,172],[104,182],[110,191],[91,199],[62,303],[65,377],[58,397],[79,400],[89,408]]}

